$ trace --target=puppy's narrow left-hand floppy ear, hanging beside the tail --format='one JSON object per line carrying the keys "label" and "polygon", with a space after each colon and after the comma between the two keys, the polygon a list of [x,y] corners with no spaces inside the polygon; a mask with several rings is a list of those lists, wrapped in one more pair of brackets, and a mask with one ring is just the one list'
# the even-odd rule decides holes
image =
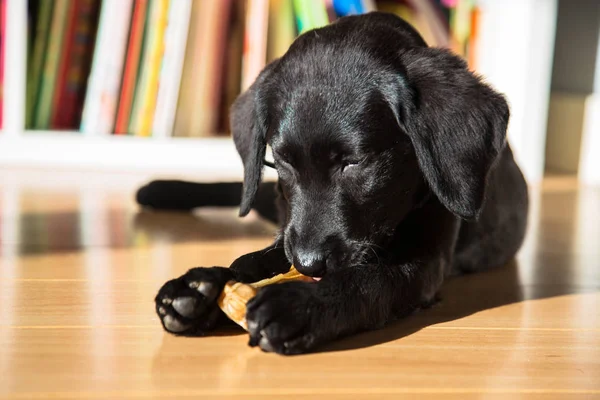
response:
{"label": "puppy's narrow left-hand floppy ear, hanging beside the tail", "polygon": [[267,147],[267,110],[263,104],[261,86],[275,65],[276,61],[269,64],[248,90],[238,96],[231,108],[233,141],[244,164],[241,217],[250,212],[262,177]]}

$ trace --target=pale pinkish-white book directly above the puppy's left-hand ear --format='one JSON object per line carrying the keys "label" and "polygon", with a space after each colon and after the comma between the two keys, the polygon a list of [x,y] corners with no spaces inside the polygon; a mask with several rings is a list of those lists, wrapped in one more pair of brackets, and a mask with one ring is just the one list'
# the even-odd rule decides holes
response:
{"label": "pale pinkish-white book directly above the puppy's left-hand ear", "polygon": [[267,61],[269,1],[248,0],[244,50],[242,56],[242,91],[254,82]]}

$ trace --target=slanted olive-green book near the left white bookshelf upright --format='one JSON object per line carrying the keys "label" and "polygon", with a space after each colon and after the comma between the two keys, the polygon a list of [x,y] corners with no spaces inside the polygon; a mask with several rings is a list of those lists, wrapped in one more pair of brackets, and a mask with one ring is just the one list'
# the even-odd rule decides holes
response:
{"label": "slanted olive-green book near the left white bookshelf upright", "polygon": [[53,11],[54,0],[38,2],[32,50],[27,65],[25,127],[28,129],[33,128]]}

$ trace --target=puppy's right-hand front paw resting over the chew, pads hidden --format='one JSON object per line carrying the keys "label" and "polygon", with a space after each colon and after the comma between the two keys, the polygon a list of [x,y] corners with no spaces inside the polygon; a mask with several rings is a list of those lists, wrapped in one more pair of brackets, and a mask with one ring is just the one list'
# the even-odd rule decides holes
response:
{"label": "puppy's right-hand front paw resting over the chew, pads hidden", "polygon": [[287,282],[266,286],[248,303],[250,346],[279,354],[300,354],[325,339],[317,284]]}

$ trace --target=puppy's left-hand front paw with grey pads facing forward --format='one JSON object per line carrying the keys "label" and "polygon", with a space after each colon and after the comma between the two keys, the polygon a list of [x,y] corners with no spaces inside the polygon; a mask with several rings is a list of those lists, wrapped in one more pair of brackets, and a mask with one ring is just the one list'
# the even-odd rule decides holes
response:
{"label": "puppy's left-hand front paw with grey pads facing forward", "polygon": [[154,299],[165,330],[199,336],[213,329],[221,314],[216,301],[229,279],[226,268],[193,268],[165,283]]}

